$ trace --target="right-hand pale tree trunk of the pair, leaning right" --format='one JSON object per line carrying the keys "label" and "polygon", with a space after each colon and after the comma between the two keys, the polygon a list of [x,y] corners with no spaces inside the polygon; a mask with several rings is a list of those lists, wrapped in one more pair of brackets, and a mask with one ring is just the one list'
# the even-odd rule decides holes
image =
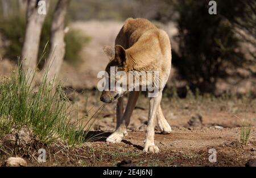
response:
{"label": "right-hand pale tree trunk of the pair, leaning right", "polygon": [[53,14],[49,57],[44,67],[48,82],[53,82],[60,71],[65,55],[65,16],[70,0],[59,0]]}

